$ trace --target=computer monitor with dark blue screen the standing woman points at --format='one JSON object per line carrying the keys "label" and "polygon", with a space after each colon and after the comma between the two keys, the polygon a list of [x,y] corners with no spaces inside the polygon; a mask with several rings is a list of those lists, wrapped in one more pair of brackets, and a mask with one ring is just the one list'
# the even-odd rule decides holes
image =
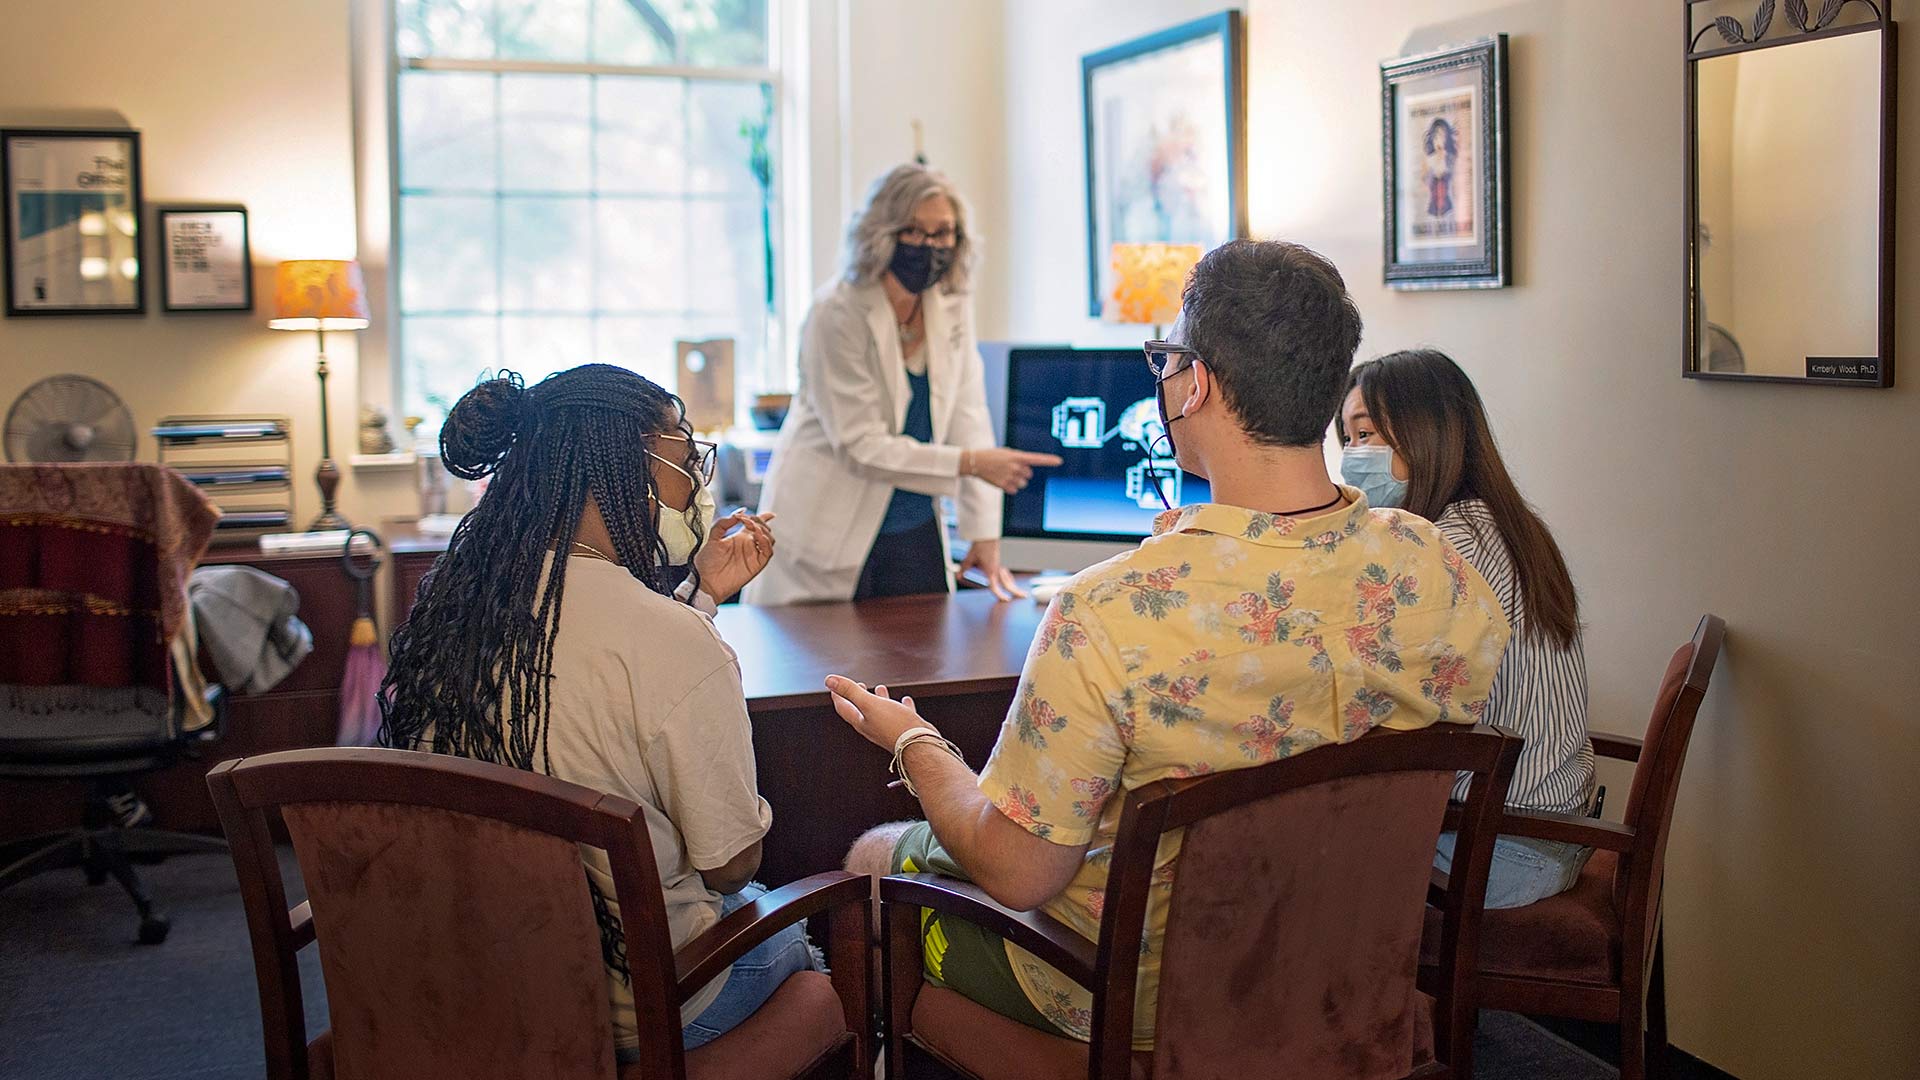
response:
{"label": "computer monitor with dark blue screen the standing woman points at", "polygon": [[1206,480],[1152,454],[1167,444],[1156,446],[1164,429],[1140,350],[1016,348],[1006,375],[1006,446],[1066,459],[1006,496],[1006,536],[1119,552],[1152,532],[1162,494],[1175,507],[1212,496]]}

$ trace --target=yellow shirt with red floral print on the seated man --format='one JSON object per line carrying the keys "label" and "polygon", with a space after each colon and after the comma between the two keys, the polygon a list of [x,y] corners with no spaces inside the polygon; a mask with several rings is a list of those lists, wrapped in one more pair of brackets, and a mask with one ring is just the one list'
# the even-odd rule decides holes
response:
{"label": "yellow shirt with red floral print on the seated man", "polygon": [[[1046,611],[979,788],[1054,844],[1089,844],[1044,911],[1098,940],[1117,790],[1277,761],[1375,726],[1475,723],[1507,648],[1486,580],[1427,521],[1352,505],[1275,517],[1167,511]],[[1152,1047],[1179,836],[1158,855],[1135,1011]],[[1089,1038],[1092,997],[1008,945],[1048,1020]]]}

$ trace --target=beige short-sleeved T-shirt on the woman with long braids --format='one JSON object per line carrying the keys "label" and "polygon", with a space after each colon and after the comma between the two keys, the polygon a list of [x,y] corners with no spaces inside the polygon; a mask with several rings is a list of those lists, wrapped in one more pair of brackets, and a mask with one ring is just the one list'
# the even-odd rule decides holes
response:
{"label": "beige short-sleeved T-shirt on the woman with long braids", "polygon": [[[739,659],[705,613],[624,567],[572,557],[547,692],[549,774],[645,809],[668,932],[684,945],[720,920],[720,894],[699,871],[724,867],[774,824],[755,782]],[[582,861],[618,913],[607,855],[582,847]],[[682,1024],[724,984],[726,974],[689,997]],[[634,992],[611,970],[609,986],[614,1045],[634,1047]]]}

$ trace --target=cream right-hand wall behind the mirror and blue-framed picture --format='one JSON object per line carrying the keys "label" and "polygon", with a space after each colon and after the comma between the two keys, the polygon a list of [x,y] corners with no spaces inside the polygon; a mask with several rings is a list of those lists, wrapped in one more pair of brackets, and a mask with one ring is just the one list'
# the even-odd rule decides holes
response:
{"label": "cream right-hand wall behind the mirror and blue-framed picture", "polygon": [[[1085,315],[1079,56],[1217,8],[1006,2],[1012,334],[1139,338]],[[1920,350],[1885,392],[1680,379],[1678,8],[1242,4],[1252,227],[1342,267],[1363,356],[1427,342],[1473,373],[1580,584],[1597,728],[1638,734],[1670,650],[1726,617],[1668,853],[1676,1043],[1743,1080],[1920,1076]],[[1386,290],[1379,61],[1500,31],[1517,286]],[[1920,246],[1901,271],[1920,311]]]}

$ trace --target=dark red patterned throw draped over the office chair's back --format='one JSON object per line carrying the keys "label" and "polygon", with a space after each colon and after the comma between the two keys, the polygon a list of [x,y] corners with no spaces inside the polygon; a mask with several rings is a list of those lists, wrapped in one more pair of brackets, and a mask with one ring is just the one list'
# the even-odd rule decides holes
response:
{"label": "dark red patterned throw draped over the office chair's back", "polygon": [[0,465],[0,684],[167,686],[217,517],[161,465]]}

